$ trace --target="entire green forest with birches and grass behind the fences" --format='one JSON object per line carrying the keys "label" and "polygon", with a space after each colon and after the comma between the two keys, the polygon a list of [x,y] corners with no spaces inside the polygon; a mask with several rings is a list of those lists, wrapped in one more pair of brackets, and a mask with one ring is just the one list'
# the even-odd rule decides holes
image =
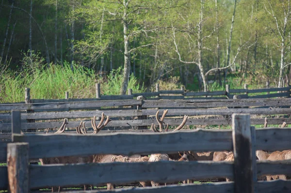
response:
{"label": "entire green forest with birches and grass behind the fences", "polygon": [[290,0],[0,1],[0,103],[291,78]]}

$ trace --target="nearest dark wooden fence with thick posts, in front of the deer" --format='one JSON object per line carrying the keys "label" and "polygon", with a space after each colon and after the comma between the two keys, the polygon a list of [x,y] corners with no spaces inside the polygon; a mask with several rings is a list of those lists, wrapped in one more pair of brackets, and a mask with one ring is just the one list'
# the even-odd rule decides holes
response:
{"label": "nearest dark wooden fence with thick posts, in front of the deer", "polygon": [[[291,163],[257,161],[256,149],[291,149],[291,129],[257,129],[250,115],[234,114],[232,131],[193,130],[160,134],[20,134],[20,113],[13,112],[13,142],[7,145],[7,168],[0,167],[0,189],[30,189],[82,184],[130,183],[153,180],[231,178],[234,182],[124,189],[125,193],[290,193],[291,181],[258,181],[257,176],[291,175]],[[76,143],[78,142],[78,143]],[[2,146],[2,144],[0,144]],[[85,147],[85,148],[84,148]],[[53,149],[53,150],[52,150]],[[5,149],[6,150],[6,149]],[[233,150],[234,162],[89,163],[29,165],[29,159],[92,154],[151,154],[178,151]],[[8,173],[7,173],[8,171]],[[109,193],[120,190],[108,191]]]}

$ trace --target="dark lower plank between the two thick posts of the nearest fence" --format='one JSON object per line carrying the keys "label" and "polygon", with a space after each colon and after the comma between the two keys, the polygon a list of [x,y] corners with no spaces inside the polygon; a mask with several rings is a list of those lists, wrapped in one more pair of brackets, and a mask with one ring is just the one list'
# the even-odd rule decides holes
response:
{"label": "dark lower plank between the two thick posts of the nearest fence", "polygon": [[[178,169],[181,168],[181,169]],[[93,172],[90,172],[93,171]],[[232,163],[215,162],[152,162],[91,163],[30,166],[30,187],[82,184],[129,183],[153,180],[173,182],[184,179],[232,177]]]}

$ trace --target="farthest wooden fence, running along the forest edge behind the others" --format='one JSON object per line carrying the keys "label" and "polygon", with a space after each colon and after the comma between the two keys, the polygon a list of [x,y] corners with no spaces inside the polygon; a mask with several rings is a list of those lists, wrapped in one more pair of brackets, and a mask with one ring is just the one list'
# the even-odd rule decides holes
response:
{"label": "farthest wooden fence, running along the forest edge behind the others", "polygon": [[[73,99],[69,98],[68,91],[65,92],[65,99],[31,99],[30,89],[25,89],[25,102],[20,104],[30,103],[58,103],[58,102],[81,102],[81,101],[100,101],[100,100],[132,100],[137,96],[148,97],[148,100],[159,99],[232,99],[234,94],[239,95],[242,99],[258,99],[258,98],[275,98],[275,97],[290,97],[290,86],[283,88],[266,88],[266,89],[248,89],[245,84],[244,89],[230,89],[226,85],[226,90],[207,91],[207,92],[186,92],[184,87],[180,90],[160,90],[159,84],[156,86],[156,92],[132,93],[132,89],[128,89],[128,95],[101,95],[100,84],[96,84],[96,98]],[[254,93],[267,92],[267,94],[254,95]],[[270,92],[277,92],[272,93]],[[249,95],[252,94],[252,95]],[[19,104],[19,103],[18,103]]]}

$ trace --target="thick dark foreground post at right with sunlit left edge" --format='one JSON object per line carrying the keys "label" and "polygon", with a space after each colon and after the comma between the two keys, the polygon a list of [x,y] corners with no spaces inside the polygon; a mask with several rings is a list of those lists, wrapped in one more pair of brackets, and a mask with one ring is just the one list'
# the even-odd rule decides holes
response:
{"label": "thick dark foreground post at right with sunlit left edge", "polygon": [[[254,132],[255,133],[255,132]],[[256,149],[249,114],[232,115],[235,193],[255,193],[257,183]],[[255,161],[254,161],[255,159]]]}

